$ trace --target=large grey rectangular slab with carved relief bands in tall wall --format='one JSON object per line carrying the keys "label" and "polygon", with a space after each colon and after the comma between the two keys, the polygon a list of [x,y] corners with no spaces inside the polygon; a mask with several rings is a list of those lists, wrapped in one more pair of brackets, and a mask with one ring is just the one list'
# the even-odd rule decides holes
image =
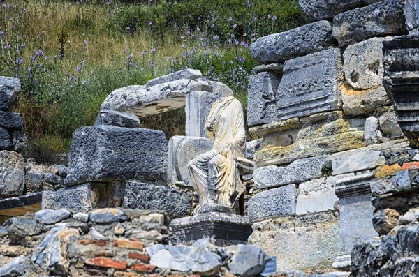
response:
{"label": "large grey rectangular slab with carved relief bands in tall wall", "polygon": [[341,63],[337,48],[286,61],[276,96],[278,119],[341,107]]}

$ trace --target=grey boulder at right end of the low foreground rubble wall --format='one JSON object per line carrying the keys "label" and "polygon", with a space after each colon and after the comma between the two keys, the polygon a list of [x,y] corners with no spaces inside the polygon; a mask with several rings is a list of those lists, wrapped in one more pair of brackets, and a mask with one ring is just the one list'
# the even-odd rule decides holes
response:
{"label": "grey boulder at right end of the low foreground rubble wall", "polygon": [[233,253],[227,267],[237,276],[254,276],[263,272],[267,262],[271,260],[262,248],[253,245],[239,244],[228,246],[226,250]]}

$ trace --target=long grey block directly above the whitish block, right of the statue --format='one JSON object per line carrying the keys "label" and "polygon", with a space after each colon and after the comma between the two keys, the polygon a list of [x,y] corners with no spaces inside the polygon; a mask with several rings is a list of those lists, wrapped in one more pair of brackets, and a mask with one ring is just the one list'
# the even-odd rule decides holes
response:
{"label": "long grey block directly above the whitish block, right of the statue", "polygon": [[256,188],[275,188],[322,177],[322,168],[328,163],[326,156],[294,160],[286,167],[270,165],[253,172]]}

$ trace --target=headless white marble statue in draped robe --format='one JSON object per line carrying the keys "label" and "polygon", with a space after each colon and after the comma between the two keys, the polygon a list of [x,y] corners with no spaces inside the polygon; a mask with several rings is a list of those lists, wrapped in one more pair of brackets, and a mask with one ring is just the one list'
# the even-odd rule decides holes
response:
{"label": "headless white marble statue in draped robe", "polygon": [[200,195],[200,207],[216,203],[233,207],[237,195],[245,190],[237,171],[237,157],[243,157],[246,144],[243,109],[233,96],[217,100],[205,123],[214,140],[212,150],[189,162],[193,188]]}

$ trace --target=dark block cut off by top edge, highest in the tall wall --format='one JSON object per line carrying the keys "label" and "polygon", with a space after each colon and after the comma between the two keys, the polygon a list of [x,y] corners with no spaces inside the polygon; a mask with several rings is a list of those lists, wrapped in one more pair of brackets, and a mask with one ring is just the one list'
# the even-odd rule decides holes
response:
{"label": "dark block cut off by top edge, highest in the tall wall", "polygon": [[302,12],[310,21],[329,20],[339,13],[365,6],[363,0],[299,0]]}

